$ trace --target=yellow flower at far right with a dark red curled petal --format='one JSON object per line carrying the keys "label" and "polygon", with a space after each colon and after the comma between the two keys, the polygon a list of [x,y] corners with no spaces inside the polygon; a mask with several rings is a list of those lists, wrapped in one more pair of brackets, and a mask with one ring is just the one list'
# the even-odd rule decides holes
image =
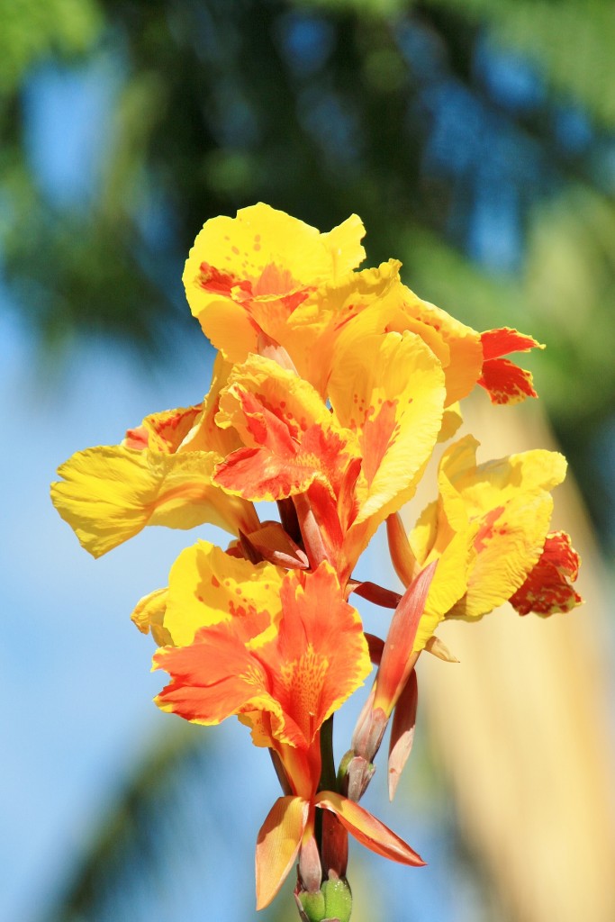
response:
{"label": "yellow flower at far right with a dark red curled petal", "polygon": [[[391,542],[400,574],[408,573],[412,559],[420,566],[439,561],[416,650],[445,617],[476,620],[517,593],[521,607],[529,604],[544,610],[547,599],[554,607],[559,590],[546,585],[543,598],[531,574],[539,579],[545,568],[555,566],[561,585],[562,573],[574,579],[578,569],[574,551],[562,538],[548,537],[550,490],[565,477],[562,455],[534,450],[477,465],[478,444],[467,436],[444,453],[438,474],[440,497],[424,510],[408,536],[411,553],[398,552],[397,530]],[[568,590],[563,604],[571,608],[579,600]]]}

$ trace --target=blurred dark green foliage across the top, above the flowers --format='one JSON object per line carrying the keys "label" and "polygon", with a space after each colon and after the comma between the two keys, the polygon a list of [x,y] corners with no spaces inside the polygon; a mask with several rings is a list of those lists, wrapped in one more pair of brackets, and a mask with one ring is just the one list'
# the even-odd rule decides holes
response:
{"label": "blurred dark green foliage across the top, above the flowers", "polygon": [[[48,356],[95,333],[163,361],[194,328],[179,279],[205,219],[264,200],[325,229],[356,211],[372,262],[396,255],[428,300],[548,343],[538,389],[599,518],[591,452],[615,394],[614,45],[598,0],[5,2],[10,299]],[[46,75],[92,73],[109,88],[82,119],[97,167],[67,158],[92,178],[63,198],[37,166],[32,100]],[[43,116],[49,132],[53,101]]]}

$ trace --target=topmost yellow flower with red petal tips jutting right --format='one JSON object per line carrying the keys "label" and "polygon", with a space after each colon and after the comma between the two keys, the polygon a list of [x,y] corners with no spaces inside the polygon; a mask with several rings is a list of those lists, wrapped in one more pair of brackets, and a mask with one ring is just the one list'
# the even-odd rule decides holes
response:
{"label": "topmost yellow flower with red petal tips jutting right", "polygon": [[403,285],[396,260],[353,271],[365,256],[363,234],[356,215],[321,234],[262,203],[240,209],[234,219],[210,219],[183,273],[192,313],[232,363],[258,352],[265,334],[289,352],[322,396],[335,370],[338,339],[407,331],[440,361],[445,407],[475,384],[494,403],[536,396],[531,374],[503,358],[542,349],[535,339],[509,327],[479,334],[461,324]]}

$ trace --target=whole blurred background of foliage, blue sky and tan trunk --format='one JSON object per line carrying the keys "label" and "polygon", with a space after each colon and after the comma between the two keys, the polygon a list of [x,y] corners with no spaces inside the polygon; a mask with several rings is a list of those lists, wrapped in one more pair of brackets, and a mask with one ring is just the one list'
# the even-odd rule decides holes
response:
{"label": "whole blurred background of foliage, blue sky and tan trunk", "polygon": [[[584,555],[584,609],[450,625],[461,665],[421,662],[407,775],[367,805],[429,867],[353,849],[353,918],[615,918],[614,50],[608,0],[0,0],[0,918],[256,917],[268,761],[159,714],[128,621],[193,536],[91,561],[48,483],[207,391],[183,260],[258,200],[321,230],[357,212],[370,265],[548,344],[539,405],[469,412],[485,457],[562,447]],[[377,542],[365,567],[392,585]]]}

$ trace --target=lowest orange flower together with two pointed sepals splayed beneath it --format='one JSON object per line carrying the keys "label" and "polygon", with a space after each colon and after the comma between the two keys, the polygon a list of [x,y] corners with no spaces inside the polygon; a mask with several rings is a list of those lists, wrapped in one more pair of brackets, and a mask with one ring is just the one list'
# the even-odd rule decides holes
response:
{"label": "lowest orange flower together with two pointed sepals splayed beneath it", "polygon": [[[192,578],[187,570],[182,573],[185,597],[205,600],[206,621],[190,643],[164,647],[154,656],[154,668],[171,676],[156,701],[162,710],[198,724],[219,724],[237,715],[251,727],[256,746],[278,755],[290,794],[278,798],[258,835],[258,908],[273,899],[300,850],[312,842],[316,808],[334,813],[378,854],[421,864],[408,845],[366,810],[335,791],[317,793],[321,727],[371,669],[361,619],[344,601],[334,571],[323,563],[314,573],[288,573],[281,584],[268,584],[248,609],[231,611],[227,606],[220,620],[211,623],[210,553],[197,550],[187,561],[197,563],[198,592],[195,568]],[[180,621],[183,611],[178,609]],[[190,619],[189,634],[193,628]],[[172,628],[171,635],[177,636]]]}

